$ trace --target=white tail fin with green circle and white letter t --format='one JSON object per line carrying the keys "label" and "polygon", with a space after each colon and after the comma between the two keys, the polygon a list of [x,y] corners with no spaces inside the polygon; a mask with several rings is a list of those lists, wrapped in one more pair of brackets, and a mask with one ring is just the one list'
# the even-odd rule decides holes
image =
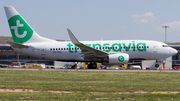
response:
{"label": "white tail fin with green circle and white letter t", "polygon": [[4,9],[12,38],[15,43],[54,41],[39,36],[12,6],[4,6]]}

